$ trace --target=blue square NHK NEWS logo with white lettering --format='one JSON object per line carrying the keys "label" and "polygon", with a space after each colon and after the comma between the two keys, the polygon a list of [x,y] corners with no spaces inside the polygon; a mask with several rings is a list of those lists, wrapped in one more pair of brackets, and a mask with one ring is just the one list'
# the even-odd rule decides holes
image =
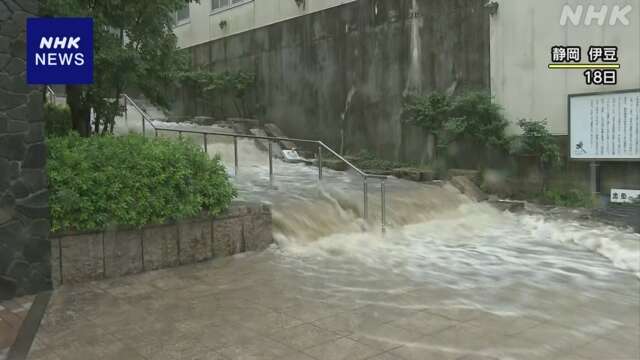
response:
{"label": "blue square NHK NEWS logo with white lettering", "polygon": [[27,19],[27,82],[93,82],[91,18]]}

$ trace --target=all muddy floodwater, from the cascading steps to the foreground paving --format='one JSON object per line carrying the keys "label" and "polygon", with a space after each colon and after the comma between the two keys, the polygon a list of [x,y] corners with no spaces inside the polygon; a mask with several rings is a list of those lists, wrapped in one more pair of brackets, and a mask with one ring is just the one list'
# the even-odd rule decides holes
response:
{"label": "all muddy floodwater, from the cascading steps to the foreground paving", "polygon": [[[233,174],[230,138],[209,153]],[[365,222],[354,174],[276,159],[270,184],[265,151],[238,153],[270,249],[62,288],[30,358],[640,358],[640,235],[395,178],[382,234],[375,182]]]}

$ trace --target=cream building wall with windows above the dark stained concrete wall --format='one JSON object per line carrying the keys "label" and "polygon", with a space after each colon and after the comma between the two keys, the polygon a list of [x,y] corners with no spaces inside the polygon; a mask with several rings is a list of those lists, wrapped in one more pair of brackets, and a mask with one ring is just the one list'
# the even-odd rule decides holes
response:
{"label": "cream building wall with windows above the dark stained concrete wall", "polygon": [[[189,4],[190,20],[175,28],[179,47],[217,40],[355,0],[305,0],[301,6],[295,0],[247,0],[221,11],[212,11],[211,1]],[[225,28],[220,27],[222,21],[227,23]]]}

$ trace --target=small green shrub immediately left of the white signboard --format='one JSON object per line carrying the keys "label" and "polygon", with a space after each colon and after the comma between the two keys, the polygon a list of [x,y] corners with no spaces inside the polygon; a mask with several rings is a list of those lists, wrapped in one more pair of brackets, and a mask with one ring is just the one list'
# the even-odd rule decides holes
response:
{"label": "small green shrub immediately left of the white signboard", "polygon": [[542,174],[542,191],[546,191],[551,169],[560,163],[560,148],[553,135],[547,129],[546,120],[518,121],[522,136],[515,145],[520,155],[532,155],[538,159],[538,168]]}

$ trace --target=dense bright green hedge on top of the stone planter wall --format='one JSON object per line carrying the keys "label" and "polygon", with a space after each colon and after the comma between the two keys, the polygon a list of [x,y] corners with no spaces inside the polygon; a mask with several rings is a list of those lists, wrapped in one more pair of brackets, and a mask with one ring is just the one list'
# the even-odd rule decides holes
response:
{"label": "dense bright green hedge on top of the stone planter wall", "polygon": [[220,159],[186,140],[72,134],[48,145],[53,232],[215,215],[237,195]]}

